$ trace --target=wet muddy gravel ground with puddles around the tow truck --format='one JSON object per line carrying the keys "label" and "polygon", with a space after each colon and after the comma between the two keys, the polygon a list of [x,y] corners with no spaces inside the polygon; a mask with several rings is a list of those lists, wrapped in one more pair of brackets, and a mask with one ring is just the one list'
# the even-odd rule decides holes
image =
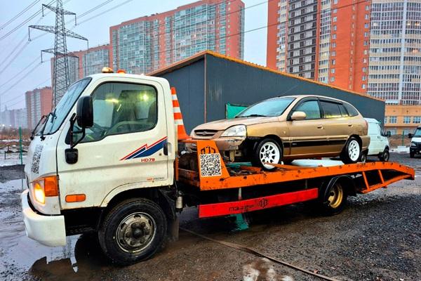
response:
{"label": "wet muddy gravel ground with puddles around the tow truck", "polygon": [[[413,166],[415,181],[351,197],[337,216],[297,204],[255,213],[248,230],[235,232],[232,218],[198,220],[191,208],[181,225],[339,280],[421,280],[421,158],[391,160]],[[0,183],[0,280],[319,280],[183,231],[149,261],[126,268],[110,264],[87,235],[44,247],[25,236],[21,172],[14,173]]]}

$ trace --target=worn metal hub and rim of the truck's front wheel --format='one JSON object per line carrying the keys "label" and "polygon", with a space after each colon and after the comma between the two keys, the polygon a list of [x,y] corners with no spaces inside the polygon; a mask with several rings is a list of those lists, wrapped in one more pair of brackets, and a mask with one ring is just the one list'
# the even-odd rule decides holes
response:
{"label": "worn metal hub and rim of the truck's front wheel", "polygon": [[130,214],[116,229],[116,242],[123,251],[135,253],[152,243],[155,232],[156,223],[152,216],[145,213]]}

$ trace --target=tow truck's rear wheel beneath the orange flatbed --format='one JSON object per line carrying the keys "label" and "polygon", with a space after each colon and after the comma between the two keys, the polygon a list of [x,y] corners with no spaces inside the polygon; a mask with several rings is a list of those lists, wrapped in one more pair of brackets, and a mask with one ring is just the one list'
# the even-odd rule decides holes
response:
{"label": "tow truck's rear wheel beneath the orange flatbed", "polygon": [[347,204],[347,190],[337,181],[330,186],[321,203],[323,214],[327,216],[339,214]]}

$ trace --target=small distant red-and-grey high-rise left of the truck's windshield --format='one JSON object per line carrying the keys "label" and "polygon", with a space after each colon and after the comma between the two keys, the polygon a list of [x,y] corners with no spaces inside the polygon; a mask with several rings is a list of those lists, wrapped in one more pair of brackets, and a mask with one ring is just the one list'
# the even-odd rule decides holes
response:
{"label": "small distant red-and-grey high-rise left of the truck's windshield", "polygon": [[34,129],[36,123],[43,115],[51,112],[53,101],[53,90],[51,87],[34,89],[25,93],[27,126],[28,129]]}

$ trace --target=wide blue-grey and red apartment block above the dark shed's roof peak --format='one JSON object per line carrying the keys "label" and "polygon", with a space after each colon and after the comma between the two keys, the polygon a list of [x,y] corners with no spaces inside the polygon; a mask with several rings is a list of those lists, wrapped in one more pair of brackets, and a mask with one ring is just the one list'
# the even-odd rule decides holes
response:
{"label": "wide blue-grey and red apartment block above the dark shed's roof peak", "polygon": [[205,50],[243,58],[244,4],[201,0],[110,27],[109,65],[149,73]]}

